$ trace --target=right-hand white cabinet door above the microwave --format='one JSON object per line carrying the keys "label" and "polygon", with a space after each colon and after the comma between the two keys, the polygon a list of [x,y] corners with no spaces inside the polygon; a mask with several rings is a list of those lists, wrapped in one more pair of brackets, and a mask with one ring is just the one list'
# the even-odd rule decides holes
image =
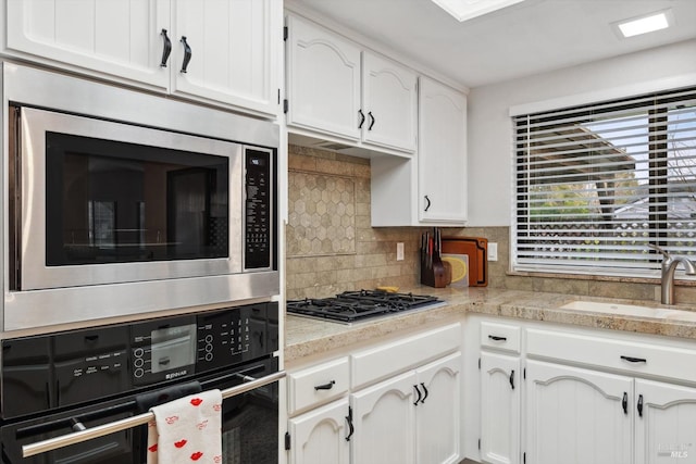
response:
{"label": "right-hand white cabinet door above the microwave", "polygon": [[[176,0],[172,91],[275,113],[279,4],[279,0]],[[191,50],[185,73],[183,37]]]}

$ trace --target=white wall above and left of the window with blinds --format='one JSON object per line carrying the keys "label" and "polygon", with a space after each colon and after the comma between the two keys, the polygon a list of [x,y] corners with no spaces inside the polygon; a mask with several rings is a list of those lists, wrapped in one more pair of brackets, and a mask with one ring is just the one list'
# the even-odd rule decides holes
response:
{"label": "white wall above and left of the window with blinds", "polygon": [[688,40],[471,89],[468,224],[511,224],[511,106],[529,103],[539,111],[696,85],[695,57],[696,40]]}

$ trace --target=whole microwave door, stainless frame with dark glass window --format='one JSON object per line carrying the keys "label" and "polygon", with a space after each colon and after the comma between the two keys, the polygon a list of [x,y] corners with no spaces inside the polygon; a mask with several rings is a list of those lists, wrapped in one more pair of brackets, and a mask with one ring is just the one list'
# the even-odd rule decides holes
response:
{"label": "whole microwave door, stainless frame with dark glass window", "polygon": [[243,272],[243,146],[30,108],[20,118],[15,289]]}

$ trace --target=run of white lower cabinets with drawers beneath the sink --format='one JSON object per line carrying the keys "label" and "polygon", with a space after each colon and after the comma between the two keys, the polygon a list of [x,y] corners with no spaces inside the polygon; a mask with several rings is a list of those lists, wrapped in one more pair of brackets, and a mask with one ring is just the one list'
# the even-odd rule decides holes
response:
{"label": "run of white lower cabinets with drawers beneath the sink", "polygon": [[692,341],[513,324],[481,322],[481,446],[470,457],[696,464]]}

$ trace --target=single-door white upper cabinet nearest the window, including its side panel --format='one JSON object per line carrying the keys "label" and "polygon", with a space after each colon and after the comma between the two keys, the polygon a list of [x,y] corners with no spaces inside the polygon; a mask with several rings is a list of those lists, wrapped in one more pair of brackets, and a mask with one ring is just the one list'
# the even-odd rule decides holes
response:
{"label": "single-door white upper cabinet nearest the window, including its side panel", "polygon": [[372,159],[372,226],[467,222],[467,96],[420,77],[418,154]]}

